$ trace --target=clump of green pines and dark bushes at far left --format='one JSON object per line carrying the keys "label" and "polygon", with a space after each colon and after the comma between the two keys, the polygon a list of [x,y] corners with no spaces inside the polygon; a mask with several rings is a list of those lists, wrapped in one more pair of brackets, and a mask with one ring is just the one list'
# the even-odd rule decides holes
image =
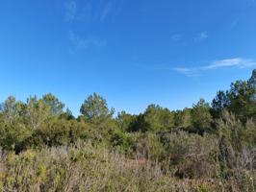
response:
{"label": "clump of green pines and dark bushes at far left", "polygon": [[52,94],[26,103],[9,97],[1,105],[0,144],[16,153],[31,147],[64,145],[86,138],[85,125],[63,112],[64,105]]}

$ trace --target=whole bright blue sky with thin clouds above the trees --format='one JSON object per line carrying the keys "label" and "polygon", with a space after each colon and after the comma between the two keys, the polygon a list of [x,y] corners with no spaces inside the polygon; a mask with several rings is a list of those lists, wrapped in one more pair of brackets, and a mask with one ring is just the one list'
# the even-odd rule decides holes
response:
{"label": "whole bright blue sky with thin clouds above the trees", "polygon": [[255,0],[0,0],[0,101],[190,108],[256,68]]}

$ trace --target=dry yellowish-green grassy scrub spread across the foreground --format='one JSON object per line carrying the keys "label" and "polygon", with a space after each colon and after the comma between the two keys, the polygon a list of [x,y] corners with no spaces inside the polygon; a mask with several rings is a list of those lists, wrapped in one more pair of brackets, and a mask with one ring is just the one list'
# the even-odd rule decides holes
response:
{"label": "dry yellowish-green grassy scrub spread across the foreground", "polygon": [[0,157],[0,191],[203,192],[241,191],[241,185],[243,191],[255,191],[255,173],[246,174],[243,180],[179,180],[160,163],[127,159],[90,143]]}

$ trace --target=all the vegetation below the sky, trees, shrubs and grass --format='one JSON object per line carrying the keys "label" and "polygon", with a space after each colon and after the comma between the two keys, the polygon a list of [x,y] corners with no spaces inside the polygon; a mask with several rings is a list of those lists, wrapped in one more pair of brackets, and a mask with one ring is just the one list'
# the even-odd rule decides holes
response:
{"label": "all the vegetation below the sky, trees, shrubs and grass", "polygon": [[0,106],[0,191],[256,191],[256,69],[211,103],[75,117],[51,93]]}

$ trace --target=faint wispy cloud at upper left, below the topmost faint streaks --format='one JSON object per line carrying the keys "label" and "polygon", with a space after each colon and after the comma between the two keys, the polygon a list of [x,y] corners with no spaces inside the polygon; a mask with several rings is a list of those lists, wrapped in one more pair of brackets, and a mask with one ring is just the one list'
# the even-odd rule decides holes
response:
{"label": "faint wispy cloud at upper left, below the topmost faint streaks", "polygon": [[69,32],[69,40],[76,48],[88,49],[90,47],[102,47],[106,42],[98,37],[90,36],[88,38],[83,38],[76,35],[74,32]]}

